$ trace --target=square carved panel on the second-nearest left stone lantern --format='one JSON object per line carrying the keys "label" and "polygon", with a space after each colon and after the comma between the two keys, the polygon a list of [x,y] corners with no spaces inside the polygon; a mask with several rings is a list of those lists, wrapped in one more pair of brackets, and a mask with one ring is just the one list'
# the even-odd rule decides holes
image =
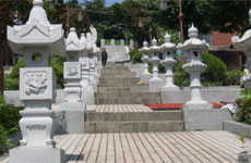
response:
{"label": "square carved panel on the second-nearest left stone lantern", "polygon": [[79,62],[64,62],[63,77],[65,79],[81,79],[81,63]]}

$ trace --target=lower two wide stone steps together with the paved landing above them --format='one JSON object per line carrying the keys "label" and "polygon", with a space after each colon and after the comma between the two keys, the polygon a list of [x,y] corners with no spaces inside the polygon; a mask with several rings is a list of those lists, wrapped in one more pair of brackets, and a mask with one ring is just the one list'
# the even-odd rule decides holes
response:
{"label": "lower two wide stone steps together with the paved landing above them", "polygon": [[87,108],[85,133],[181,131],[181,111],[152,111],[143,104],[106,104]]}

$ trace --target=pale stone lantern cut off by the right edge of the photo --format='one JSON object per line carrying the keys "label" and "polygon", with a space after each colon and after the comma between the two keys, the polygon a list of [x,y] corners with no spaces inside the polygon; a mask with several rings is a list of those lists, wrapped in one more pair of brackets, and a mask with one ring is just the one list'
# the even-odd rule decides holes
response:
{"label": "pale stone lantern cut off by the right edge of the photo", "polygon": [[[249,17],[251,23],[251,10],[249,10]],[[231,38],[231,42],[236,49],[244,52],[247,55],[244,67],[249,71],[249,73],[241,77],[241,83],[247,89],[251,89],[251,29],[247,30],[241,38],[234,36]]]}

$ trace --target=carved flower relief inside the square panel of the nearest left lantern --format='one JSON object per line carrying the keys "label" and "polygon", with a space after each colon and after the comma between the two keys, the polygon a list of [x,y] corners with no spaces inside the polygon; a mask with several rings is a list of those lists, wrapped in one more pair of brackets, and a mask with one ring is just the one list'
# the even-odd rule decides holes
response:
{"label": "carved flower relief inside the square panel of the nearest left lantern", "polygon": [[47,73],[26,73],[24,79],[26,95],[40,95],[47,89]]}

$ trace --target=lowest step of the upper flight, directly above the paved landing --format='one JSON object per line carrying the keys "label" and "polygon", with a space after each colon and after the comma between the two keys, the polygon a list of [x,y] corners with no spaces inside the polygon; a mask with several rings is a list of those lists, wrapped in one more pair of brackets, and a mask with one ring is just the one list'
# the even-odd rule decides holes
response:
{"label": "lowest step of the upper flight, directly above the paved landing", "polygon": [[160,97],[150,97],[150,98],[106,98],[96,97],[95,104],[150,104],[150,103],[162,103]]}

